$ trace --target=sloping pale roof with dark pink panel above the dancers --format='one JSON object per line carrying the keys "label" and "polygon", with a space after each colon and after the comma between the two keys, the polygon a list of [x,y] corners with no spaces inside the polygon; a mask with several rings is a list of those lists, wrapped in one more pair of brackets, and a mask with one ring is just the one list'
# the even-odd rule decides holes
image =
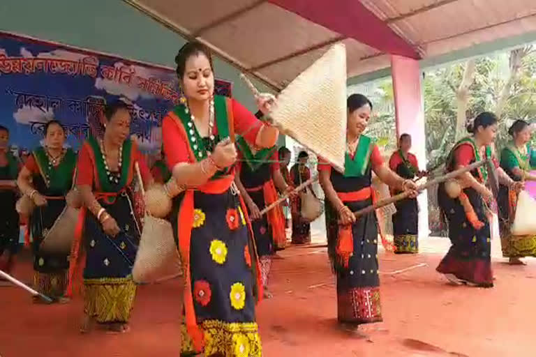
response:
{"label": "sloping pale roof with dark pink panel above the dancers", "polygon": [[389,54],[432,59],[527,33],[536,39],[534,0],[124,1],[274,90],[339,41],[350,78],[389,68]]}

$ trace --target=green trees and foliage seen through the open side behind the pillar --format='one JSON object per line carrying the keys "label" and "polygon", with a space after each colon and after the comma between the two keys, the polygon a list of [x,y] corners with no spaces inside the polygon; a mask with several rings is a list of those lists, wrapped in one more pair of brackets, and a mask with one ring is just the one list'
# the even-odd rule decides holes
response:
{"label": "green trees and foliage seen through the open side behind the pillar", "polygon": [[[426,169],[436,173],[456,138],[466,135],[468,119],[484,111],[499,116],[496,150],[508,142],[507,130],[516,119],[536,124],[536,51],[529,45],[489,54],[461,63],[432,68],[423,73],[426,121]],[[350,93],[363,93],[374,105],[368,134],[378,139],[385,153],[396,148],[392,79],[359,84]],[[458,128],[458,130],[456,130]],[[533,137],[532,144],[536,144]],[[444,234],[439,223],[435,192],[429,192],[432,234]]]}

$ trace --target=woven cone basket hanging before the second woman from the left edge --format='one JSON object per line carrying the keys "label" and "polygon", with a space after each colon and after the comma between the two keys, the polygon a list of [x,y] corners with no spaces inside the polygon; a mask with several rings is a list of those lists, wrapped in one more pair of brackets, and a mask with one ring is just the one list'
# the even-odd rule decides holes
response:
{"label": "woven cone basket hanging before the second woman from the left edge", "polygon": [[80,209],[66,205],[61,211],[56,222],[43,237],[39,245],[39,251],[53,255],[69,255],[70,246],[73,244],[75,227]]}

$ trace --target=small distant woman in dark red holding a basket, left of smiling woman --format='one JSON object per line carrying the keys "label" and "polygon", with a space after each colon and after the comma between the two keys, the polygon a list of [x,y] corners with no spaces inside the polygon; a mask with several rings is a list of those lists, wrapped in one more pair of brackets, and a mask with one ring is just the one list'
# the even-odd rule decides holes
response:
{"label": "small distant woman in dark red holding a basket, left of smiling woman", "polygon": [[[294,187],[311,179],[311,170],[306,166],[308,160],[309,154],[306,151],[300,151],[297,162],[290,169],[290,179]],[[309,188],[311,189],[311,186]],[[290,198],[290,212],[292,213],[292,243],[311,243],[311,222],[301,217],[299,195]]]}

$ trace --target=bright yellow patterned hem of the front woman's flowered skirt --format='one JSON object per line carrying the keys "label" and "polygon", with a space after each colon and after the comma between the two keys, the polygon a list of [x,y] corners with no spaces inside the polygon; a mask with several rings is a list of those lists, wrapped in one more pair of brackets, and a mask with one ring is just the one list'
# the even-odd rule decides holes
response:
{"label": "bright yellow patterned hem of the front woman's flowered skirt", "polygon": [[[200,324],[204,333],[204,356],[261,357],[262,346],[255,322],[227,323],[207,320]],[[181,326],[181,356],[191,356],[193,342]]]}

